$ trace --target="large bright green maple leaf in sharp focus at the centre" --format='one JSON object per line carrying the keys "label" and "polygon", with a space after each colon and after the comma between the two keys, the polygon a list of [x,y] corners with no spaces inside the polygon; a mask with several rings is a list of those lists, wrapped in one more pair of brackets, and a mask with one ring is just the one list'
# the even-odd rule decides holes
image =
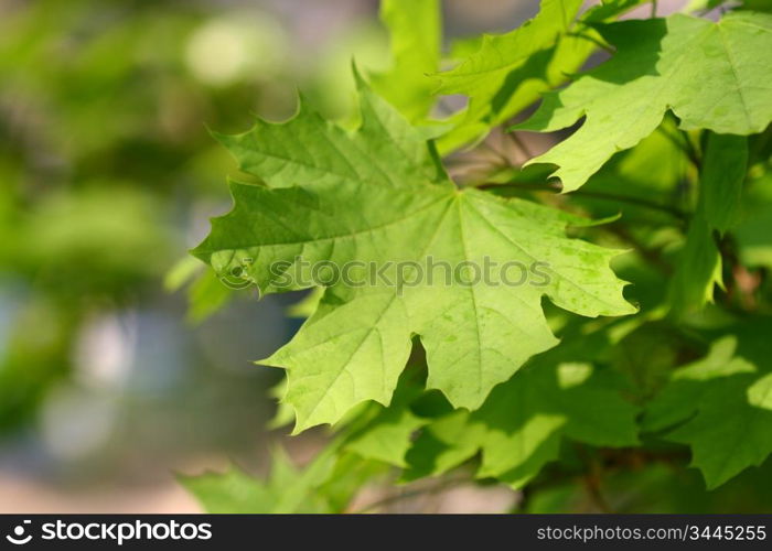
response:
{"label": "large bright green maple leaf in sharp focus at the centre", "polygon": [[[358,87],[362,125],[353,133],[301,107],[288,122],[223,137],[242,170],[266,185],[234,183],[234,209],[194,250],[264,293],[312,285],[319,262],[334,272],[355,261],[384,276],[328,287],[294,338],[262,361],[288,370],[296,431],[335,422],[358,402],[388,404],[414,334],[427,350],[427,386],[474,409],[557,344],[543,296],[586,316],[635,311],[609,267],[619,251],[566,236],[567,225],[586,219],[457,188],[421,131],[361,79]],[[474,266],[513,261],[540,262],[546,278],[470,279]],[[417,277],[417,266],[441,262],[461,268],[460,277],[449,281],[446,268]]]}

